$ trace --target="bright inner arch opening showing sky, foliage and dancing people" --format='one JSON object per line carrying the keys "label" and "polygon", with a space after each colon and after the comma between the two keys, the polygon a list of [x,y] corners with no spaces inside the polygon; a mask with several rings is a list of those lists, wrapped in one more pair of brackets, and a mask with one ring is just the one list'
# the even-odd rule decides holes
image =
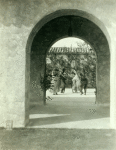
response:
{"label": "bright inner arch opening showing sky, foliage and dancing people", "polygon": [[[96,59],[95,51],[82,39],[68,37],[55,42],[46,56],[46,97],[53,97],[56,93],[57,97],[65,93],[62,99],[73,97],[73,93],[77,98],[80,94],[89,94],[95,103]],[[58,74],[54,76],[56,69]],[[87,88],[81,86],[81,75],[87,79]],[[58,80],[55,82],[54,78]]]}

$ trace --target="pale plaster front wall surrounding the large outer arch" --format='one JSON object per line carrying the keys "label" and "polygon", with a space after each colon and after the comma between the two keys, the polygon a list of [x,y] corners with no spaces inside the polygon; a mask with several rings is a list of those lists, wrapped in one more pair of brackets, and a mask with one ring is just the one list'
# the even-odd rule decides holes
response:
{"label": "pale plaster front wall surrounding the large outer arch", "polygon": [[[111,52],[111,111],[112,127],[116,127],[116,3],[114,0],[22,0],[0,1],[0,126],[13,120],[14,127],[25,126],[28,122],[29,74],[25,69],[29,62],[30,50],[27,45],[38,31],[33,28],[46,15],[62,9],[77,9],[81,15],[98,25],[108,39]],[[85,13],[87,12],[87,13]],[[92,15],[90,15],[92,14]],[[96,19],[98,18],[98,19]],[[47,20],[46,20],[47,22]],[[100,23],[102,22],[102,23]],[[104,28],[105,26],[105,28]],[[109,36],[108,36],[108,34]],[[29,38],[30,34],[33,34]],[[31,34],[31,35],[32,35]],[[28,44],[27,44],[28,41]],[[31,45],[31,43],[30,43]],[[27,50],[26,50],[26,47]],[[10,55],[9,56],[9,52]],[[18,63],[14,63],[14,60]],[[20,60],[20,63],[19,63]],[[10,66],[11,65],[11,66]],[[8,67],[9,66],[9,67]],[[27,64],[29,66],[29,63]],[[15,69],[14,69],[15,68]],[[19,74],[19,70],[20,73]],[[26,71],[26,77],[25,77]],[[9,75],[7,75],[9,74]],[[16,76],[16,82],[15,82]],[[27,78],[28,77],[28,78]],[[6,84],[7,83],[7,84]],[[7,86],[9,85],[9,86]],[[12,85],[12,86],[10,86]],[[20,85],[20,86],[19,86]],[[26,85],[26,86],[25,86]],[[25,97],[26,95],[26,97]],[[13,109],[15,108],[15,109]],[[26,111],[25,111],[26,110]],[[114,112],[114,113],[112,113]],[[27,117],[25,117],[27,116]],[[1,119],[2,118],[2,119]],[[114,123],[115,122],[115,123]]]}

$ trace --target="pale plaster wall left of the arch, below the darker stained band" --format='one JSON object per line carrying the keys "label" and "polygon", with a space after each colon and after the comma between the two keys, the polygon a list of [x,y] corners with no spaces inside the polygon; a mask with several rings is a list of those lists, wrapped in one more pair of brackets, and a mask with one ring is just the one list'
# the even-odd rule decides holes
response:
{"label": "pale plaster wall left of the arch, below the darker stained band", "polygon": [[[0,121],[25,124],[25,45],[29,28],[1,25],[0,30]],[[21,40],[23,39],[23,41]]]}

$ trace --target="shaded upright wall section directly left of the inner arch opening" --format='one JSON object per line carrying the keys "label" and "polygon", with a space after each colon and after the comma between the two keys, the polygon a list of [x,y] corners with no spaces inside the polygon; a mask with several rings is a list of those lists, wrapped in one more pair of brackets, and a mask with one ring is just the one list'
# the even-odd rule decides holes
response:
{"label": "shaded upright wall section directly left of the inner arch opening", "polygon": [[30,64],[30,104],[43,105],[45,101],[45,89],[43,84],[45,75],[46,55],[31,53]]}

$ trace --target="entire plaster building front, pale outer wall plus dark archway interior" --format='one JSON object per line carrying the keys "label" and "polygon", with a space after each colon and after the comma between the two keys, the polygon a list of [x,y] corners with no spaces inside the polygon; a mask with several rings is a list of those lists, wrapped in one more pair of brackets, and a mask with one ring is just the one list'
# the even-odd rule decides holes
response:
{"label": "entire plaster building front, pale outer wall plus dark archway interior", "polygon": [[110,104],[111,128],[116,128],[115,8],[115,0],[0,1],[0,127],[8,120],[15,128],[28,124],[30,102],[44,101],[38,83],[49,47],[73,36],[96,51],[98,104]]}

